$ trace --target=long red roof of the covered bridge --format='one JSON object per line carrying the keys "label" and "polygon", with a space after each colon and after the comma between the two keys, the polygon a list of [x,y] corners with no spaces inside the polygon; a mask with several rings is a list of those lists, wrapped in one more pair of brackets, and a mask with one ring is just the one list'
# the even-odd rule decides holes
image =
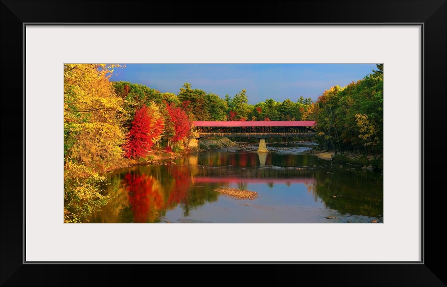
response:
{"label": "long red roof of the covered bridge", "polygon": [[315,121],[195,121],[196,127],[313,127]]}

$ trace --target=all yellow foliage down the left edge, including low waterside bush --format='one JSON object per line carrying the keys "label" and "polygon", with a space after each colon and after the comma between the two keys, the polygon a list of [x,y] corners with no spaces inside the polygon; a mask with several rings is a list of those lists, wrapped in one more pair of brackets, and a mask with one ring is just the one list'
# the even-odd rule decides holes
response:
{"label": "all yellow foliage down the left edge, including low waterside bush", "polygon": [[122,160],[125,114],[107,64],[64,65],[64,222],[82,222],[112,195],[104,171]]}

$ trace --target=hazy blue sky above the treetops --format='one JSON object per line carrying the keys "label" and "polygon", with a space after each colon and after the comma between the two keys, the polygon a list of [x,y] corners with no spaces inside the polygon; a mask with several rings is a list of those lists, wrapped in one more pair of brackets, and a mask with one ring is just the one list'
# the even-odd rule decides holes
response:
{"label": "hazy blue sky above the treetops", "polygon": [[222,99],[245,89],[249,104],[266,99],[316,101],[335,85],[363,79],[376,64],[125,64],[111,81],[142,84],[161,93],[178,94],[184,83]]}

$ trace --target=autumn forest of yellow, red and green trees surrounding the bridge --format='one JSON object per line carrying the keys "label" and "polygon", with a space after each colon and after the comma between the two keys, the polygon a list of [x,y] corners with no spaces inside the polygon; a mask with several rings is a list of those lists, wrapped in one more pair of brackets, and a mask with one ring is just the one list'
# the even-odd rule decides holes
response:
{"label": "autumn forest of yellow, red and green trees surrounding the bridge", "polygon": [[[383,154],[383,64],[314,102],[273,98],[248,104],[249,92],[221,98],[184,83],[177,94],[112,82],[114,64],[64,65],[64,222],[81,222],[107,204],[107,174],[151,152],[187,152],[192,121],[316,121],[313,139],[335,154]],[[322,90],[325,87],[322,87]]]}

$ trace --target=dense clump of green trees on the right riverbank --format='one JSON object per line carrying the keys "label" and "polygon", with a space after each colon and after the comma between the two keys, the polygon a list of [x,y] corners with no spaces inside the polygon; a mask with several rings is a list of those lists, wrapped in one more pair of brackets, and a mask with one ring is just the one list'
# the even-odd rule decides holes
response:
{"label": "dense clump of green trees on the right riverbank", "polygon": [[331,146],[338,152],[360,151],[364,154],[383,153],[383,64],[362,80],[344,88],[338,86],[326,91],[317,100],[319,137],[321,145]]}

